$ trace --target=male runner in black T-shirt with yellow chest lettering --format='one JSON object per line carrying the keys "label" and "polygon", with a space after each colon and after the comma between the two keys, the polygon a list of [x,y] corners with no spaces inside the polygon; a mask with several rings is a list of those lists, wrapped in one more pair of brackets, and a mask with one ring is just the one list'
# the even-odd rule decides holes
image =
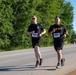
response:
{"label": "male runner in black T-shirt with yellow chest lettering", "polygon": [[50,26],[48,30],[48,34],[52,34],[54,38],[54,48],[57,52],[58,63],[56,68],[60,68],[60,66],[64,65],[65,59],[62,58],[62,49],[64,45],[64,39],[66,34],[68,34],[67,28],[64,25],[60,24],[60,17],[57,16],[55,18],[55,24]]}

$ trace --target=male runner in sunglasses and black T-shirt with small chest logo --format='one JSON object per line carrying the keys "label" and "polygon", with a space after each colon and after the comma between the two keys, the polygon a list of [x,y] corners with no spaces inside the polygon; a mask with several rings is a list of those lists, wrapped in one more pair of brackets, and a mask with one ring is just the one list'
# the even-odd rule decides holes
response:
{"label": "male runner in sunglasses and black T-shirt with small chest logo", "polygon": [[39,47],[41,43],[41,37],[46,33],[46,30],[41,24],[37,23],[37,17],[35,15],[32,16],[32,22],[33,23],[28,27],[28,34],[31,35],[32,38],[32,46],[34,48],[36,57],[35,67],[37,67],[38,65],[41,66],[43,62]]}

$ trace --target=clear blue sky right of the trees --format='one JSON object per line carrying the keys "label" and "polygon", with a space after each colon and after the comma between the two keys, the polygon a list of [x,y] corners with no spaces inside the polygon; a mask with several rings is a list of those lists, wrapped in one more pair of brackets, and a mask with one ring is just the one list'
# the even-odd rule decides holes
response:
{"label": "clear blue sky right of the trees", "polygon": [[74,7],[73,28],[74,28],[74,31],[76,32],[76,0],[66,0],[66,1],[70,2],[71,5]]}

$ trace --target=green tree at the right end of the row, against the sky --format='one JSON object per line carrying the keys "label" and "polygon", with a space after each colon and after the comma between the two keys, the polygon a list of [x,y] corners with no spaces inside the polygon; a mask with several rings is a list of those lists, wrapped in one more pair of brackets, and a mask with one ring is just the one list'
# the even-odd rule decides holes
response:
{"label": "green tree at the right end of the row, against the sky", "polygon": [[62,24],[64,24],[67,29],[68,29],[68,37],[67,41],[70,42],[70,39],[72,37],[72,32],[73,32],[73,7],[70,4],[70,2],[64,2],[64,4],[61,6],[63,11],[61,13],[61,18],[62,18]]}

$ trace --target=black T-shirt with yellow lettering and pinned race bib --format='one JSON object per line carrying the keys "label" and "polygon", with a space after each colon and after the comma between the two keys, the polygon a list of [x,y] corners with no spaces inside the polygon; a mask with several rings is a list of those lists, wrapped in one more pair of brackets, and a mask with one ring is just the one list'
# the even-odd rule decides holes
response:
{"label": "black T-shirt with yellow lettering and pinned race bib", "polygon": [[52,25],[50,26],[48,32],[51,32],[53,29],[56,31],[52,33],[54,39],[64,39],[63,35],[66,34],[67,28],[63,25]]}

